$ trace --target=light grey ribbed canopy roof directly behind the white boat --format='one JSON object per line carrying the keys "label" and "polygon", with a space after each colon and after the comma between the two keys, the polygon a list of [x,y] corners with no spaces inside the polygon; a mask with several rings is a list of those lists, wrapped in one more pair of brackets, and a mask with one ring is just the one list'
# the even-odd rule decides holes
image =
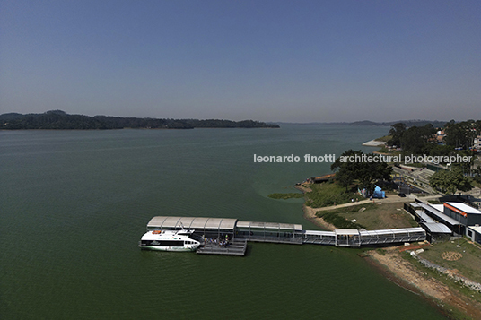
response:
{"label": "light grey ribbed canopy roof directly behind the white boat", "polygon": [[193,217],[153,217],[147,228],[187,229],[234,229],[237,219],[230,218],[193,218]]}

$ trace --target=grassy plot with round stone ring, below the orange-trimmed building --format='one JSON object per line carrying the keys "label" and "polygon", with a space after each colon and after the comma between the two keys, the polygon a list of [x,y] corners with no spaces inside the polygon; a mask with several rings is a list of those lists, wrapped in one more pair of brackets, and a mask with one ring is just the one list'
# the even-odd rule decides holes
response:
{"label": "grassy plot with round stone ring, below the orange-trimmed building", "polygon": [[[426,246],[424,252],[419,255],[434,264],[451,270],[458,270],[460,275],[481,283],[481,249],[468,243],[465,238],[453,242],[446,241],[436,243],[433,246]],[[461,257],[459,260],[449,261],[443,258],[443,254],[446,257],[446,253],[457,253]]]}

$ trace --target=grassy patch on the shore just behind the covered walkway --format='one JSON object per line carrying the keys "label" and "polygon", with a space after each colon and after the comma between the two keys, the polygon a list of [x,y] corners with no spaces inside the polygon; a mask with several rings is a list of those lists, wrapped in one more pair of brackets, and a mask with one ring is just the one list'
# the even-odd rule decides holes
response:
{"label": "grassy patch on the shore just behind the covered walkway", "polygon": [[[345,221],[355,219],[356,224],[368,230],[417,227],[417,222],[413,217],[401,210],[403,205],[404,203],[364,203],[328,212],[336,214]],[[337,228],[346,228],[333,224]]]}

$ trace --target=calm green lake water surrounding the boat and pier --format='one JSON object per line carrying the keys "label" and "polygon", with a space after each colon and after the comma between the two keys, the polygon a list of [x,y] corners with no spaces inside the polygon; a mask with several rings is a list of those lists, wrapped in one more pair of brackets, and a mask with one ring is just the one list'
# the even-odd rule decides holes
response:
{"label": "calm green lake water surrounding the boat and pier", "polygon": [[387,127],[0,132],[2,319],[438,319],[357,249],[250,244],[245,257],[141,251],[155,215],[302,223],[273,200]]}

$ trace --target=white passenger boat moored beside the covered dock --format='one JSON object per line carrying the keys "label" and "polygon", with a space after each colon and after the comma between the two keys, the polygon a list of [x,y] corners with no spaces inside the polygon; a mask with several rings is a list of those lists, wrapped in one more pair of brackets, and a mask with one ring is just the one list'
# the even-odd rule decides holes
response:
{"label": "white passenger boat moored beside the covered dock", "polygon": [[194,230],[151,230],[142,236],[142,249],[162,251],[195,251],[200,242],[191,238]]}

